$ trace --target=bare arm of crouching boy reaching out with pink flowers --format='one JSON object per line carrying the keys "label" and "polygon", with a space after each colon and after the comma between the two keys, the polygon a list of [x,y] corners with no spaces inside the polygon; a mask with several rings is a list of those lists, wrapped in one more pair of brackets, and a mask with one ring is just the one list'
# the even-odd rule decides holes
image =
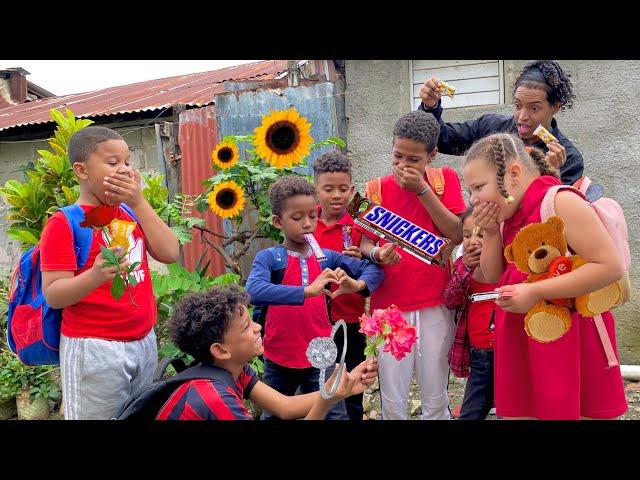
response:
{"label": "bare arm of crouching boy reaching out with pink flowers", "polygon": [[[328,400],[322,398],[320,392],[294,396],[283,395],[261,381],[255,384],[249,398],[262,409],[273,412],[283,420],[301,417],[305,417],[306,420],[322,420],[334,403],[350,395],[358,395],[373,384],[378,374],[377,370],[378,364],[375,358],[369,358],[360,363],[347,375],[342,376],[336,394]],[[334,369],[327,380],[327,388],[333,384],[336,371],[337,369]]]}

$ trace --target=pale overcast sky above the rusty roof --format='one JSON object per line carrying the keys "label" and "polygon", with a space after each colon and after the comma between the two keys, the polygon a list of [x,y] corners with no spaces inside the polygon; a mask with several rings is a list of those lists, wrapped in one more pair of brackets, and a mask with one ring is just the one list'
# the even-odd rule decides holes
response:
{"label": "pale overcast sky above the rusty roof", "polygon": [[0,60],[22,67],[27,79],[56,95],[89,92],[156,78],[206,72],[257,60]]}

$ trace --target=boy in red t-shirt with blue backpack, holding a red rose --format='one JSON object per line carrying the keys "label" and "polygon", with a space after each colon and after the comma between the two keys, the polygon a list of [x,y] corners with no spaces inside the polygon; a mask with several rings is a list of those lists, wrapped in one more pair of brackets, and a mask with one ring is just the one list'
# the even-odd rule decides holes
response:
{"label": "boy in red t-shirt with blue backpack, holding a red rose", "polygon": [[[140,174],[129,165],[129,147],[115,131],[91,126],[69,140],[69,161],[78,182],[77,204],[86,212],[118,206],[116,219],[137,224],[120,268],[140,262],[136,286],[116,300],[111,283],[115,266],[104,267],[100,247],[107,242],[93,231],[83,268],[78,269],[71,227],[62,212],[48,220],[40,240],[42,290],[49,305],[62,308],[60,371],[65,419],[110,419],[130,394],[151,383],[158,354],[153,326],[156,305],[147,250],[163,263],[178,258],[178,241],[142,196]],[[110,247],[119,254],[122,247]]]}

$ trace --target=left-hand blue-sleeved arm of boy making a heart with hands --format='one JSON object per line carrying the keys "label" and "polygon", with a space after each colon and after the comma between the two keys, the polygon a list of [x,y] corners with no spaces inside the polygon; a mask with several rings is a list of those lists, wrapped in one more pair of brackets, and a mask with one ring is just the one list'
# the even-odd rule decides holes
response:
{"label": "left-hand blue-sleeved arm of boy making a heart with hands", "polygon": [[246,290],[255,305],[302,305],[307,297],[330,295],[324,287],[327,283],[338,283],[336,274],[325,269],[310,285],[294,286],[271,283],[273,255],[262,250],[256,255],[247,279]]}

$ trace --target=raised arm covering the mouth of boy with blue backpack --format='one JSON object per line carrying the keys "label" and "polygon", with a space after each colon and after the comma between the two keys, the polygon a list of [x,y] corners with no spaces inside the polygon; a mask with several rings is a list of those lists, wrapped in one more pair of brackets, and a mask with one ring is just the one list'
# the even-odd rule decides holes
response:
{"label": "raised arm covering the mouth of boy with blue backpack", "polygon": [[144,231],[149,254],[162,263],[177,261],[180,253],[178,239],[142,195],[140,173],[134,171],[133,178],[122,173],[112,173],[105,178],[105,184],[109,188],[105,195],[114,205],[126,203],[133,209],[140,228]]}

